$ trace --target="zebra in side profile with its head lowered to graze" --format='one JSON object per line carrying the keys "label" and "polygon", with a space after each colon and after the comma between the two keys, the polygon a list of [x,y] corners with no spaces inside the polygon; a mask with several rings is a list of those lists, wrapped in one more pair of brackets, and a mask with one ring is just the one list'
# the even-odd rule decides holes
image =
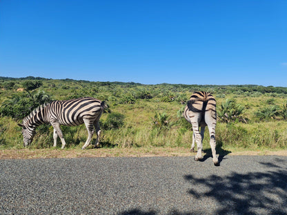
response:
{"label": "zebra in side profile with its head lowered to graze", "polygon": [[46,105],[41,105],[23,119],[23,124],[18,124],[23,128],[24,146],[32,142],[35,128],[44,123],[50,123],[54,128],[54,147],[57,145],[58,135],[62,143],[61,148],[63,149],[66,145],[60,125],[76,126],[83,123],[85,123],[88,130],[88,139],[82,149],[85,149],[90,144],[92,135],[95,132],[97,133],[95,146],[98,146],[101,134],[99,119],[103,109],[107,107],[104,101],[90,97],[67,101],[52,101]]}

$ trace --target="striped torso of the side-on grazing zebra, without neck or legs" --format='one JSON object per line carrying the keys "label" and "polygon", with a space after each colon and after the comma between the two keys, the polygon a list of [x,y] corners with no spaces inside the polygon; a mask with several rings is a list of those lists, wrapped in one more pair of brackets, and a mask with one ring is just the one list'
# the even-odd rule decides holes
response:
{"label": "striped torso of the side-on grazing zebra, without neck or legs", "polygon": [[103,112],[104,103],[91,97],[70,99],[66,101],[52,101],[49,105],[51,119],[57,120],[61,125],[81,125],[83,119],[96,121]]}

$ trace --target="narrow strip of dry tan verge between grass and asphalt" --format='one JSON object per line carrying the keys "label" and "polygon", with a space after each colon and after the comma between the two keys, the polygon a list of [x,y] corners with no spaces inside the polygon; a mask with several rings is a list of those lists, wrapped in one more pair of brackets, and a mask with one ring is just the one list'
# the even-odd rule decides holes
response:
{"label": "narrow strip of dry tan verge between grass and asphalt", "polygon": [[[217,153],[217,154],[220,154]],[[99,149],[11,149],[0,150],[0,159],[31,159],[31,158],[79,158],[79,157],[144,157],[144,156],[194,156],[195,152],[177,147],[150,148],[99,148]],[[253,150],[228,152],[228,155],[279,155],[287,156],[287,150]]]}

